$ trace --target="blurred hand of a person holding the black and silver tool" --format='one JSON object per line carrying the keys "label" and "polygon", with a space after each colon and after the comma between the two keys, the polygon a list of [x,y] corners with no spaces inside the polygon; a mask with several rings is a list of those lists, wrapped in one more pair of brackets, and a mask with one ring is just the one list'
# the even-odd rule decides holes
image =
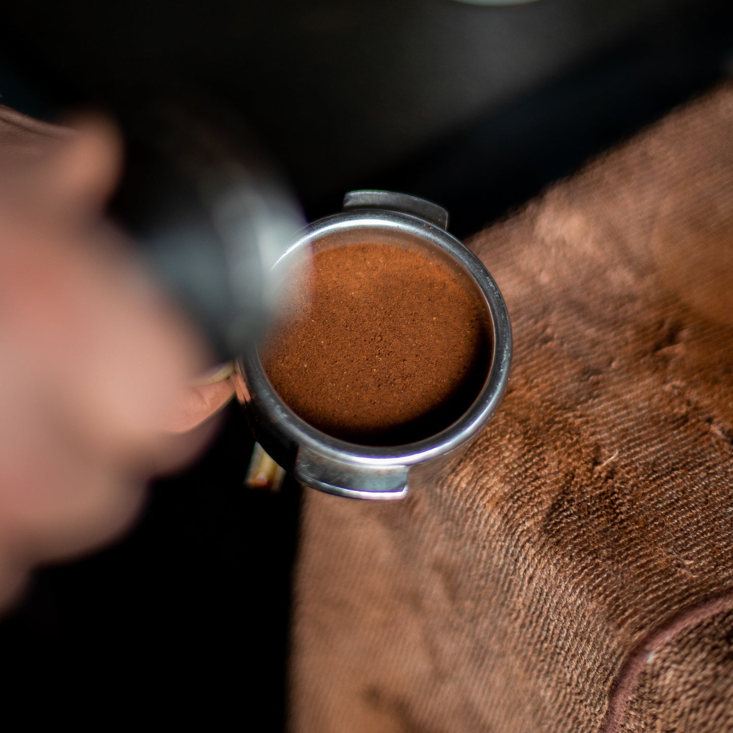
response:
{"label": "blurred hand of a person holding the black and silver tool", "polygon": [[0,107],[0,608],[126,528],[233,394],[197,379],[205,347],[100,214],[119,165],[102,119]]}

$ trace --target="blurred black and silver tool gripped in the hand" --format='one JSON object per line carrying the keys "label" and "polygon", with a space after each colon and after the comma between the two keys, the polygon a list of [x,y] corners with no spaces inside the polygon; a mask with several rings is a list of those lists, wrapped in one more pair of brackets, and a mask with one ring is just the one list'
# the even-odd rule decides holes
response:
{"label": "blurred black and silver tool gripped in the hand", "polygon": [[111,216],[215,355],[245,353],[276,297],[270,269],[303,225],[295,199],[228,114],[177,100],[124,110]]}

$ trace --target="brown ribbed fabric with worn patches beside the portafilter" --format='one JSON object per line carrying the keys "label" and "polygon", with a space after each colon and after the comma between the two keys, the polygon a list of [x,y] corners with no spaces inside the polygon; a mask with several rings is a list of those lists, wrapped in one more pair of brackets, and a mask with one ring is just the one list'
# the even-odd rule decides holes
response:
{"label": "brown ribbed fabric with worn patches beside the portafilter", "polygon": [[471,246],[507,397],[401,503],[306,492],[292,730],[731,729],[733,86]]}

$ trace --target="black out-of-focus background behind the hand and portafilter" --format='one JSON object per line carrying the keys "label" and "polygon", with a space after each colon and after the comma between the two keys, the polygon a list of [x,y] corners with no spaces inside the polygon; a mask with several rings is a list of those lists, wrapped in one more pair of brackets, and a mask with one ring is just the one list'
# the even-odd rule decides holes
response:
{"label": "black out-of-focus background behind the hand and portafilter", "polygon": [[[309,218],[391,188],[465,237],[726,78],[731,5],[26,1],[0,8],[0,102],[44,117],[183,82],[251,122]],[[0,625],[4,701],[282,729],[300,492],[246,490],[250,451],[232,405],[127,539],[38,572]]]}

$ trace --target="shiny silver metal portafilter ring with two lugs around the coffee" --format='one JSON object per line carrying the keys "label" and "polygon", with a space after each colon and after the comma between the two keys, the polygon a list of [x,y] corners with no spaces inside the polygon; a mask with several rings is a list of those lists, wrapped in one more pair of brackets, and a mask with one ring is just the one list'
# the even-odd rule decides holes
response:
{"label": "shiny silver metal portafilter ring with two lugs around the coffee", "polygon": [[314,221],[273,265],[273,274],[298,267],[313,251],[351,244],[388,244],[441,263],[474,298],[491,336],[485,380],[474,402],[452,424],[404,445],[364,446],[317,430],[298,417],[270,384],[256,348],[237,360],[239,398],[260,445],[302,485],[337,496],[397,499],[435,476],[463,452],[504,396],[512,331],[493,277],[463,243],[446,232],[448,213],[431,202],[390,191],[353,191],[341,213]]}

